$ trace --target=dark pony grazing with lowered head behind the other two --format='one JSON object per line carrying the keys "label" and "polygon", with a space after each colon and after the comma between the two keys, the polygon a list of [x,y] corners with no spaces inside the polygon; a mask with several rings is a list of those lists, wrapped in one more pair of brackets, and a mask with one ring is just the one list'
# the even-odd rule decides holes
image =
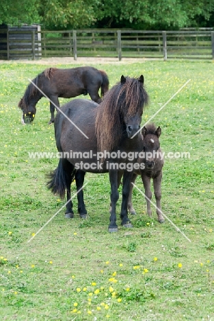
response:
{"label": "dark pony grazing with lowered head behind the other two", "polygon": [[[107,74],[94,67],[49,68],[40,73],[32,82],[36,86],[30,83],[18,103],[18,107],[23,110],[23,124],[34,120],[36,104],[42,97],[45,97],[44,95],[50,99],[51,120],[49,124],[51,124],[54,122],[55,105],[59,107],[58,97],[71,98],[89,94],[94,102],[100,104],[101,97],[109,90]],[[100,87],[101,97],[98,95]]]}

